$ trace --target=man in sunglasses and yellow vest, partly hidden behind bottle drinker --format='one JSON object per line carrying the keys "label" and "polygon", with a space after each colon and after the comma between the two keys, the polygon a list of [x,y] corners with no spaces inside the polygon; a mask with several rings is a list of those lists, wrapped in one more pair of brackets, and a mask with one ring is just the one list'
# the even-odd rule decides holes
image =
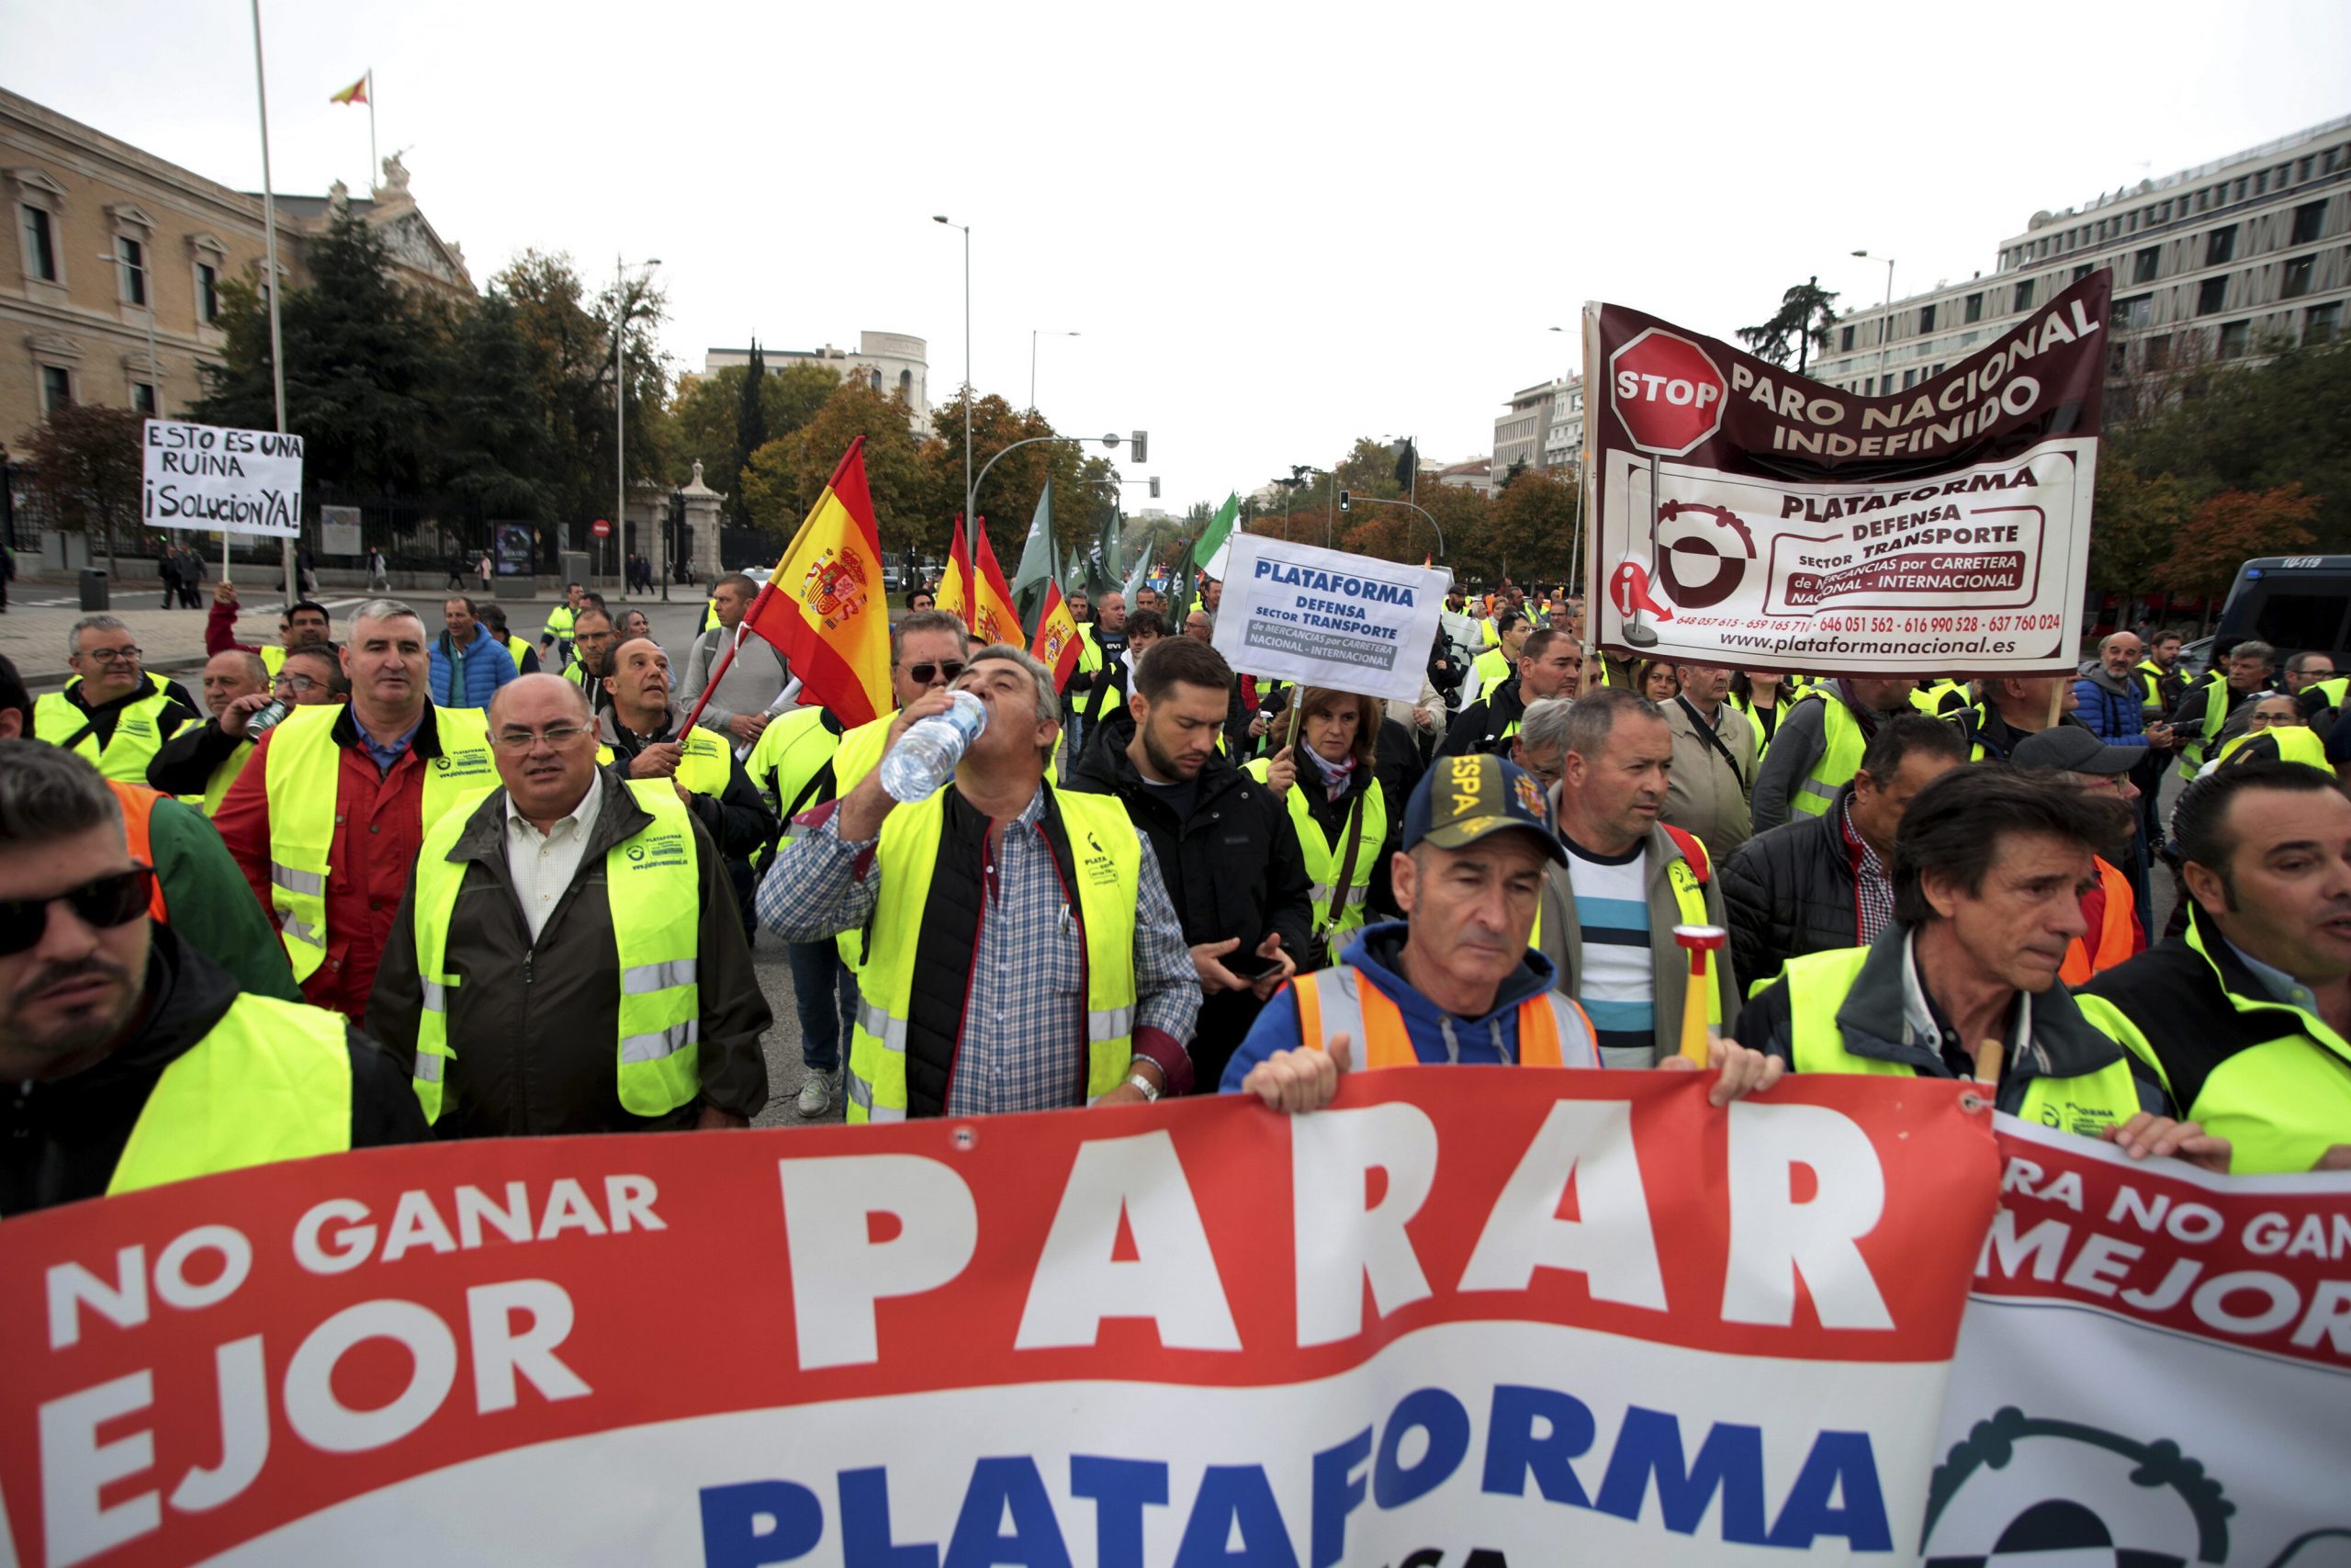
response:
{"label": "man in sunglasses and yellow vest, partly hidden behind bottle drinker", "polygon": [[[917,703],[926,691],[945,691],[964,672],[971,632],[957,616],[938,609],[912,609],[891,628],[889,684],[896,708]],[[759,733],[745,759],[752,785],[783,823],[776,849],[788,849],[795,818],[818,811],[882,764],[896,708],[870,724],[842,731],[842,722],[823,708],[795,708],[778,715]],[[762,863],[771,863],[762,856]],[[762,865],[764,870],[764,865]],[[792,1009],[799,1013],[797,1110],[802,1119],[832,1110],[842,1072],[842,1034],[858,1016],[858,964],[865,961],[865,929],[788,943],[792,969]]]}

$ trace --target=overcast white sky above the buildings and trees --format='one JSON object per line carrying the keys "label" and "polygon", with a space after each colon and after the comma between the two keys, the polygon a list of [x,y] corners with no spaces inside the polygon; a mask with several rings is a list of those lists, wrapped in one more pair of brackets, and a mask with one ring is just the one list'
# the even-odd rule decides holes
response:
{"label": "overcast white sky above the buildings and trees", "polygon": [[[487,282],[661,256],[679,369],[929,339],[1168,508],[1357,435],[1491,449],[1587,299],[1728,336],[1994,268],[2036,207],[2351,113],[2351,5],[515,5],[263,0],[280,190],[407,148]],[[0,82],[259,190],[245,0],[0,0]],[[1549,327],[1568,327],[1554,336]],[[1140,470],[1136,470],[1140,473]],[[1128,505],[1143,494],[1128,491]]]}

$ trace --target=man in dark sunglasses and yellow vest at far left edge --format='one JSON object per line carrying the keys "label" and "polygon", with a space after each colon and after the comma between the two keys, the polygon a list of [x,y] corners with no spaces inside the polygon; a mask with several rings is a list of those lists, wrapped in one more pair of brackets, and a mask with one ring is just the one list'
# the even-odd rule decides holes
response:
{"label": "man in dark sunglasses and yellow vest at far left edge", "polygon": [[150,884],[87,762],[0,741],[0,1218],[430,1135],[400,1063],[240,992]]}

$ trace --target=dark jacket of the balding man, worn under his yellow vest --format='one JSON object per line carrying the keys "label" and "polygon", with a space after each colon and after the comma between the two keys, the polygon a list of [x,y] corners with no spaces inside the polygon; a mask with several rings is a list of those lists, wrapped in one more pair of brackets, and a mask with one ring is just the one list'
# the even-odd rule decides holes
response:
{"label": "dark jacket of the balding man, worn under his yellow vest", "polygon": [[[759,1037],[773,1023],[734,919],[734,886],[694,820],[701,860],[701,1100],[665,1117],[621,1107],[621,987],[604,891],[604,856],[651,816],[604,773],[604,795],[571,886],[531,938],[505,870],[505,790],[491,790],[449,858],[465,865],[449,910],[449,1110],[442,1135],[644,1133],[694,1126],[698,1105],[757,1117],[766,1105]],[[416,884],[400,900],[393,940],[367,999],[367,1027],[402,1063],[416,1060],[423,987],[416,971]]]}

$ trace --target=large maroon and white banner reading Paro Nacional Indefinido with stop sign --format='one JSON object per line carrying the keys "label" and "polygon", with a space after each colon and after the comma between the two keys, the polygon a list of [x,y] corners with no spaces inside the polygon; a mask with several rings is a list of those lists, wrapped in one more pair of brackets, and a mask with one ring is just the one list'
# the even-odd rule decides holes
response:
{"label": "large maroon and white banner reading Paro Nacional Indefinido with stop sign", "polygon": [[1585,308],[1601,642],[1817,675],[2074,668],[2106,275],[1860,395]]}

